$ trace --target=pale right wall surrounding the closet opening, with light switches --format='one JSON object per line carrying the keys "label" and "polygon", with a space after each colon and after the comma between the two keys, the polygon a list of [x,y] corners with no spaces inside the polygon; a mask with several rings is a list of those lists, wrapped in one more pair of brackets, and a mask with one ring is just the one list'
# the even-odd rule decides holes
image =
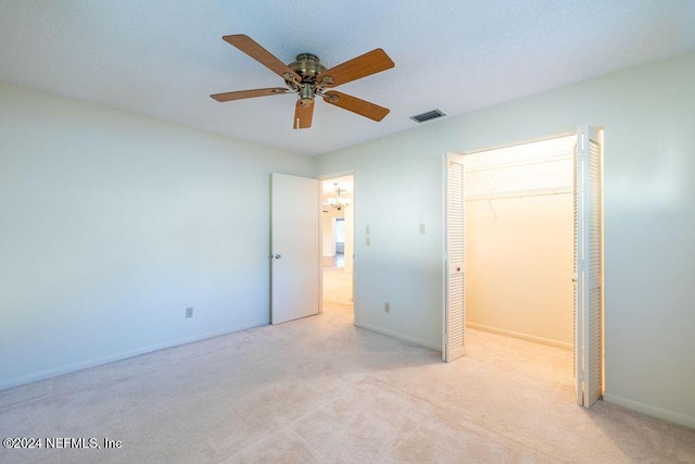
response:
{"label": "pale right wall surrounding the closet opening, with light switches", "polygon": [[605,398],[695,426],[693,83],[688,53],[320,156],[355,173],[357,325],[441,346],[444,152],[603,126]]}

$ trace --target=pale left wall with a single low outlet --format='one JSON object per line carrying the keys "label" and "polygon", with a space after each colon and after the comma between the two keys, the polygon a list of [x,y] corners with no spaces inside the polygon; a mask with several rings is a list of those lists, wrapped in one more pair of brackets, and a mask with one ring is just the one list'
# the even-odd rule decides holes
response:
{"label": "pale left wall with a single low outlet", "polygon": [[0,83],[0,389],[267,324],[274,171],[314,159]]}

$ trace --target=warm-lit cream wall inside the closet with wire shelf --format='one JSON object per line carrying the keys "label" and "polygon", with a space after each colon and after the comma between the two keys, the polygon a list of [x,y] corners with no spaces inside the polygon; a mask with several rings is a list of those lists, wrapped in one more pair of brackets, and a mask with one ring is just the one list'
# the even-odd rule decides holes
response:
{"label": "warm-lit cream wall inside the closet with wire shelf", "polygon": [[573,146],[464,156],[469,327],[572,348]]}

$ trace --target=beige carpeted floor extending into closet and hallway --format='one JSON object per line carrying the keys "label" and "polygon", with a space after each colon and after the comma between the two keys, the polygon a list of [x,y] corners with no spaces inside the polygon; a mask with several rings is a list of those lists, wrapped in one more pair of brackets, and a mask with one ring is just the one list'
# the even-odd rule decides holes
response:
{"label": "beige carpeted floor extending into closet and hallway", "polygon": [[693,429],[577,406],[567,351],[469,330],[446,364],[352,317],[345,293],[326,294],[318,316],[0,392],[0,438],[101,447],[2,448],[0,462],[695,462]]}

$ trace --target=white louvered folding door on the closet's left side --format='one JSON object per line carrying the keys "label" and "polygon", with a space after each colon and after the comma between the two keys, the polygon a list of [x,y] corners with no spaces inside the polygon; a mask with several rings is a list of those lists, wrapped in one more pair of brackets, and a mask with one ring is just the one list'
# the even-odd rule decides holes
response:
{"label": "white louvered folding door on the closet's left side", "polygon": [[466,299],[464,298],[464,165],[462,155],[446,154],[446,239],[444,272],[444,337],[442,359],[454,361],[464,354]]}

